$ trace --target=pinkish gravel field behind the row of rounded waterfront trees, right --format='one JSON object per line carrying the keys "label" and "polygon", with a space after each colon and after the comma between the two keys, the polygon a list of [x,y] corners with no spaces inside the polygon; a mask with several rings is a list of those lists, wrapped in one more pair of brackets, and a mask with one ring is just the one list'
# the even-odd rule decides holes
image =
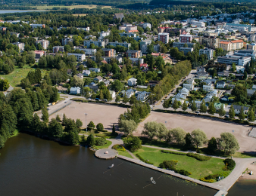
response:
{"label": "pinkish gravel field behind the row of rounded waterfront trees, right", "polygon": [[234,135],[239,141],[240,149],[239,152],[256,152],[256,139],[247,136],[248,127],[247,125],[235,124],[230,122],[216,121],[201,117],[191,117],[186,115],[167,114],[161,112],[152,112],[148,118],[145,119],[134,133],[136,136],[140,136],[143,130],[143,126],[148,121],[157,121],[165,124],[168,129],[174,127],[182,127],[186,132],[191,133],[192,130],[201,129],[204,130],[208,139],[211,137],[220,137],[220,133],[229,132],[235,130]]}

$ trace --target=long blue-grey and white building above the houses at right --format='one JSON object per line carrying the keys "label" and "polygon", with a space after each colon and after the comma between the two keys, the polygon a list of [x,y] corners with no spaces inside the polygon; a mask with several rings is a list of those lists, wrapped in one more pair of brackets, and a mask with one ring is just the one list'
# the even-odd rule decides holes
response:
{"label": "long blue-grey and white building above the houses at right", "polygon": [[245,66],[251,62],[251,57],[242,57],[236,55],[226,55],[217,58],[218,63],[225,63],[228,65],[232,65],[235,63],[237,66]]}

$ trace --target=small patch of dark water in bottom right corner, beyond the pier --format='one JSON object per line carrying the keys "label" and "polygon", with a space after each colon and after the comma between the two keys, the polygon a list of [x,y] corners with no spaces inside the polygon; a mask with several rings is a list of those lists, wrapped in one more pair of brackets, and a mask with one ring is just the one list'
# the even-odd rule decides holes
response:
{"label": "small patch of dark water in bottom right corner, beyond the pier", "polygon": [[228,196],[253,196],[256,195],[256,180],[243,179],[236,182],[232,188],[229,189]]}

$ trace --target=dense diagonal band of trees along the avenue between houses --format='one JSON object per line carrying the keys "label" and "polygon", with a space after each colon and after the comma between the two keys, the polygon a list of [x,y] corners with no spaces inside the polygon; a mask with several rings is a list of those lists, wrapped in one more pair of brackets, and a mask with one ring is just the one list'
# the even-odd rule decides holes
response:
{"label": "dense diagonal band of trees along the avenue between houses", "polygon": [[166,74],[164,78],[157,84],[153,92],[151,93],[150,99],[161,100],[161,98],[170,92],[170,90],[175,87],[175,84],[180,81],[186,75],[189,75],[191,71],[191,63],[189,60],[185,60],[179,63],[176,63],[175,66],[164,69],[162,74]]}

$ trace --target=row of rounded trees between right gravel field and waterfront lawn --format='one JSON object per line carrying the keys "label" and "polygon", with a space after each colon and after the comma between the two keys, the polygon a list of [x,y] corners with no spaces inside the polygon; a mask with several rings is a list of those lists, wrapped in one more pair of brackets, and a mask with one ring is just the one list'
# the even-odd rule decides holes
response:
{"label": "row of rounded trees between right gravel field and waterfront lawn", "polygon": [[223,150],[225,154],[233,154],[239,150],[239,142],[232,133],[221,133],[220,138],[212,137],[208,140],[203,130],[193,130],[192,133],[186,133],[180,127],[167,130],[164,124],[155,121],[144,124],[142,134],[148,136],[149,139],[157,138],[159,141],[173,142],[177,145],[184,145],[187,149],[193,146],[201,147],[208,144],[208,152],[214,154],[217,149]]}

